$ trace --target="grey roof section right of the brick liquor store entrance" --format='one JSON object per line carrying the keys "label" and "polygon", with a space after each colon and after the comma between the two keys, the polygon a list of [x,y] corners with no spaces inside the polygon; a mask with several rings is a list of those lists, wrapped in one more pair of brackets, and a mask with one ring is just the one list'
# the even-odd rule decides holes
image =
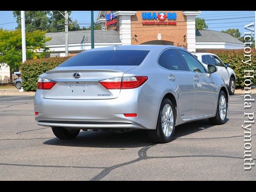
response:
{"label": "grey roof section right of the brick liquor store entrance", "polygon": [[214,30],[196,30],[196,42],[227,42],[244,44],[230,34]]}

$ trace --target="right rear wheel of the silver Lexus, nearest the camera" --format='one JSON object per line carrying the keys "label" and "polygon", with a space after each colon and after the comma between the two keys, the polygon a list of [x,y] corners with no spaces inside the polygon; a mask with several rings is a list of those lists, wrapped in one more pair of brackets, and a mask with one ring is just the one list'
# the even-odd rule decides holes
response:
{"label": "right rear wheel of the silver Lexus, nearest the camera", "polygon": [[[171,110],[171,111],[169,114],[167,113],[166,115],[165,111],[168,111],[168,110]],[[167,119],[168,121],[166,121]],[[174,106],[170,99],[164,98],[160,105],[156,129],[148,130],[148,136],[150,140],[154,143],[170,142],[174,134],[175,121],[176,121],[176,114],[175,114]],[[164,129],[164,126],[165,126],[165,129]]]}

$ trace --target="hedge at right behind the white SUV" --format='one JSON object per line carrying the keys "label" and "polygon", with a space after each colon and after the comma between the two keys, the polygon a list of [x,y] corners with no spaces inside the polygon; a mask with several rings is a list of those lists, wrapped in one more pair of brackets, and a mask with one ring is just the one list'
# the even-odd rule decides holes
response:
{"label": "hedge at right behind the white SUV", "polygon": [[[248,51],[248,50],[247,50]],[[252,66],[244,64],[242,60],[247,61],[248,57],[244,58],[244,49],[236,50],[208,50],[203,52],[209,52],[216,54],[223,62],[230,64],[230,68],[236,73],[236,87],[244,87],[244,70],[252,70],[255,67],[256,52],[252,49]],[[252,79],[253,85],[256,83],[256,78]]]}

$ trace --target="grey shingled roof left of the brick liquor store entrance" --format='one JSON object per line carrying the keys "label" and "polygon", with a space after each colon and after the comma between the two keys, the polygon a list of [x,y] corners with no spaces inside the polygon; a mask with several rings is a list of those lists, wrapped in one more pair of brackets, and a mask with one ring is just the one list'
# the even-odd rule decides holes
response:
{"label": "grey shingled roof left of the brick liquor store entrance", "polygon": [[[52,39],[46,45],[65,44],[65,32],[46,33]],[[91,43],[91,30],[69,31],[68,44]],[[94,43],[121,43],[116,30],[94,30]]]}

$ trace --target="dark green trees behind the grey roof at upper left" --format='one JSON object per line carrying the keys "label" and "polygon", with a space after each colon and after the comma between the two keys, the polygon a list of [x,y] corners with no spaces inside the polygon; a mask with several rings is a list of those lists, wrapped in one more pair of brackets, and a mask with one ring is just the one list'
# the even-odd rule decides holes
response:
{"label": "dark green trees behind the grey roof at upper left", "polygon": [[[60,11],[64,15],[64,11]],[[26,31],[47,30],[48,32],[64,31],[65,18],[58,11],[26,11],[25,24]],[[68,30],[79,30],[77,20],[72,21],[70,18],[71,11],[68,11]],[[18,28],[21,27],[20,11],[13,11],[13,16],[16,18]]]}

